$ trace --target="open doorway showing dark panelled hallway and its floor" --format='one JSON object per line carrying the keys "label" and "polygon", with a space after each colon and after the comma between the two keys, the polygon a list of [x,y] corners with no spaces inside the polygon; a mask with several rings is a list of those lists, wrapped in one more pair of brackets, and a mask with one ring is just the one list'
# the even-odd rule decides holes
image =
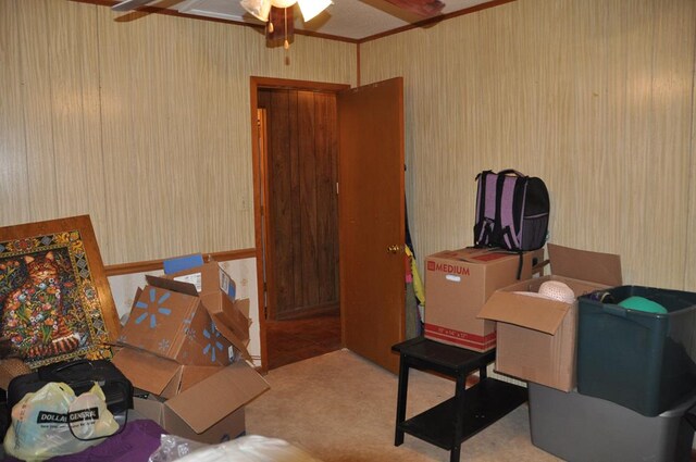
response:
{"label": "open doorway showing dark panelled hallway and its floor", "polygon": [[343,345],[336,92],[345,88],[252,77],[264,370]]}

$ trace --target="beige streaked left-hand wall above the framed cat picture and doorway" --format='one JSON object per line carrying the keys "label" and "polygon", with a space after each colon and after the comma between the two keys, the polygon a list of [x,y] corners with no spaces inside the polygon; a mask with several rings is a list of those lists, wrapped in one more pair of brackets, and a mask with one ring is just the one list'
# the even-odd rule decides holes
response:
{"label": "beige streaked left-hand wall above the framed cat picture and doorway", "polygon": [[[129,20],[129,21],[123,21]],[[0,0],[0,226],[89,213],[107,264],[252,248],[249,77],[355,85],[356,46]]]}

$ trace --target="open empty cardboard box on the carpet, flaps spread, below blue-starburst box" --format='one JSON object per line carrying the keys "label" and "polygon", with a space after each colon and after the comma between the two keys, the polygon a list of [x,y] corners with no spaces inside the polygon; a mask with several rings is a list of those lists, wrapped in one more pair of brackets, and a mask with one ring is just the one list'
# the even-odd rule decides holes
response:
{"label": "open empty cardboard box on the carpet, flaps spread, below blue-starburst box", "polygon": [[116,352],[113,361],[136,388],[152,394],[134,400],[138,412],[172,434],[203,442],[243,433],[244,405],[269,389],[245,361],[191,366],[129,347]]}

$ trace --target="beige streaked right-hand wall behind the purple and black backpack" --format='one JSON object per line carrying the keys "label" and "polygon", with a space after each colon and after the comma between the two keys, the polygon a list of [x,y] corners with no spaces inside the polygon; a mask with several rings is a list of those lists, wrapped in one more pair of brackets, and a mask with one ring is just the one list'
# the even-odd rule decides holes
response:
{"label": "beige streaked right-hand wall behind the purple and black backpack", "polygon": [[550,241],[620,253],[630,284],[696,290],[693,0],[518,0],[360,47],[403,76],[417,254],[473,242],[475,183],[545,179]]}

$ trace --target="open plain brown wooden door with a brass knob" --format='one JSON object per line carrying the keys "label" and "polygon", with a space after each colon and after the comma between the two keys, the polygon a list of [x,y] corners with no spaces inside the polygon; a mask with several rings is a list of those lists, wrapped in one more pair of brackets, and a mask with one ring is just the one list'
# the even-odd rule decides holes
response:
{"label": "open plain brown wooden door with a brass knob", "polygon": [[397,372],[405,338],[403,79],[338,93],[340,307],[348,349]]}

